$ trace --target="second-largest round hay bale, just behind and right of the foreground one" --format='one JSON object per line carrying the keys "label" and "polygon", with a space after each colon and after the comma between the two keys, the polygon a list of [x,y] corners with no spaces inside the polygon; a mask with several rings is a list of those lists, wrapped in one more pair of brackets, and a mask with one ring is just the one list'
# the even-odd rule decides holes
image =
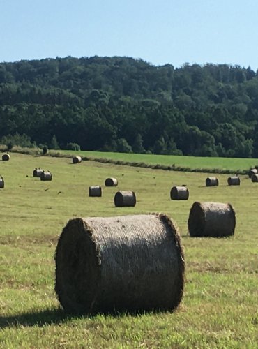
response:
{"label": "second-largest round hay bale, just behind and right of the foreground one", "polygon": [[230,204],[194,202],[188,218],[192,237],[227,237],[234,235],[236,214]]}

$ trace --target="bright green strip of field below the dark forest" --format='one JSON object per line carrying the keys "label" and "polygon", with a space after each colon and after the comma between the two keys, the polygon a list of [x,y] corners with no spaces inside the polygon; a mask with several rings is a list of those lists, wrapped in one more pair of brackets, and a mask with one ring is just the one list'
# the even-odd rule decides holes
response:
{"label": "bright green strip of field below the dark forest", "polygon": [[[61,151],[63,154],[73,154],[73,151]],[[74,154],[90,158],[110,158],[112,160],[128,161],[131,163],[146,163],[151,165],[167,165],[190,169],[220,169],[220,170],[248,170],[258,165],[256,158],[212,158],[199,156],[174,156],[154,154],[122,154],[102,151],[75,151]]]}

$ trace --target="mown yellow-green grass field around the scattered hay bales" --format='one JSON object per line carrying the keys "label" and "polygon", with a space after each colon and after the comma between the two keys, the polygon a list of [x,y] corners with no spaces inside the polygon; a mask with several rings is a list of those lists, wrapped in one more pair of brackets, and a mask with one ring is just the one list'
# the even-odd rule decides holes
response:
{"label": "mown yellow-green grass field around the scattered hay bales", "polygon": [[[206,188],[205,173],[10,155],[10,161],[0,161],[5,179],[0,189],[0,348],[258,348],[258,184],[240,176],[241,186],[227,186],[227,174],[218,174],[220,186]],[[194,159],[199,167],[199,158]],[[257,163],[241,159],[225,166]],[[50,170],[53,180],[32,177],[36,167]],[[116,177],[119,186],[105,188],[107,177]],[[170,200],[172,186],[181,184],[188,185],[189,200]],[[103,186],[102,198],[89,198],[91,185]],[[114,207],[118,190],[135,191],[137,205]],[[189,237],[194,201],[232,203],[234,237]],[[54,251],[68,219],[150,212],[168,214],[181,232],[186,271],[179,309],[91,317],[63,313],[54,293]]]}

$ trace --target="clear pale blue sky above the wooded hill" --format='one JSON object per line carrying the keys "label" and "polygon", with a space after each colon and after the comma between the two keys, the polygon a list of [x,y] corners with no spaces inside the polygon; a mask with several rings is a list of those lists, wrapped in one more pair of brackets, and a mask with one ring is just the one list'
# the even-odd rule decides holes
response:
{"label": "clear pale blue sky above the wooded hill", "polygon": [[257,0],[0,0],[0,62],[126,56],[258,68]]}

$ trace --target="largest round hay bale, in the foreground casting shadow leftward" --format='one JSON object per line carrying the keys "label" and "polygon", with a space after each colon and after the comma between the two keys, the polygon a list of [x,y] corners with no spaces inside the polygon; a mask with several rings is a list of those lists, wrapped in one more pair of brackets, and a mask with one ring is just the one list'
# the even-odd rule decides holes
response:
{"label": "largest round hay bale, in the foreground casting shadow leftward", "polygon": [[165,215],[71,219],[55,261],[56,294],[69,312],[173,311],[183,296],[183,248]]}

